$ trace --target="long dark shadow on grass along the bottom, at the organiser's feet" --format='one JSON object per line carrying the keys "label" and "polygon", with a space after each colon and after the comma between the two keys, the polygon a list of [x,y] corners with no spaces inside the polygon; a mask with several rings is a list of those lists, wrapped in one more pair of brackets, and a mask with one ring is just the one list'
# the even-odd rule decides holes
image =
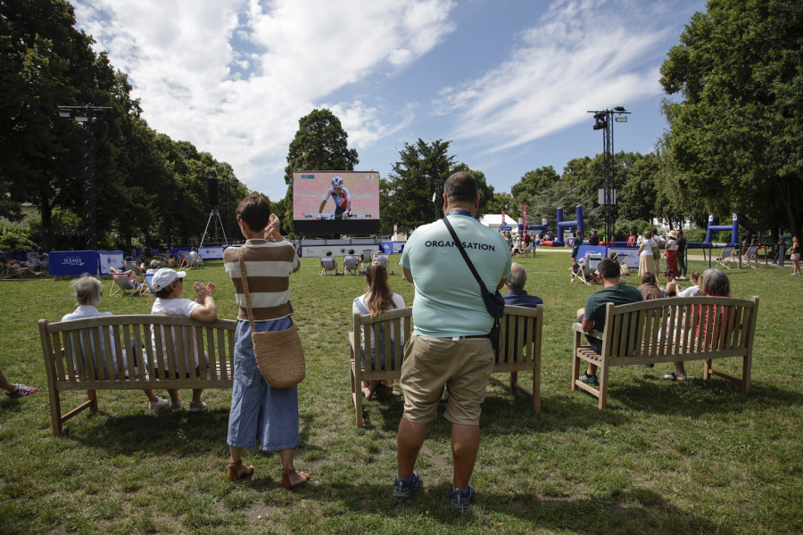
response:
{"label": "long dark shadow on grass along the bottom, at the organiser's feet", "polygon": [[[493,518],[501,531],[570,531],[588,533],[720,533],[737,531],[702,514],[691,514],[675,506],[654,490],[633,487],[613,495],[567,498],[543,495],[534,490],[510,492],[480,487],[472,505],[455,511],[449,504],[446,482],[427,483],[409,500],[393,498],[390,481],[375,485],[309,485],[294,490],[304,500],[320,506],[333,502],[356,518],[381,518],[395,522],[415,519],[418,532],[451,532],[449,528],[476,528]],[[271,485],[254,484],[255,490]],[[365,526],[370,531],[369,524]],[[490,526],[489,526],[490,527]],[[445,529],[445,531],[444,531]],[[393,528],[389,528],[393,531]]]}

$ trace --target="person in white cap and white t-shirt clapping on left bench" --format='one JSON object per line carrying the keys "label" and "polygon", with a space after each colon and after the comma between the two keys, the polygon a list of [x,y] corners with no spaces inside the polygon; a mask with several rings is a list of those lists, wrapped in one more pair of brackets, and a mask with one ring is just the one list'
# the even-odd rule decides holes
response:
{"label": "person in white cap and white t-shirt clapping on left bench", "polygon": [[[184,316],[189,317],[191,319],[195,319],[197,321],[201,321],[203,323],[211,323],[218,319],[218,308],[215,306],[215,300],[212,299],[212,293],[215,292],[215,285],[210,283],[204,286],[201,283],[195,283],[193,285],[193,290],[195,290],[195,300],[191,299],[182,299],[181,294],[184,292],[184,277],[186,276],[186,272],[184,271],[176,271],[175,269],[171,268],[161,268],[153,275],[153,283],[151,284],[151,288],[153,292],[156,293],[156,300],[153,301],[153,308],[151,309],[151,314],[157,314],[161,316]],[[164,343],[164,326],[160,326],[162,329],[162,344]],[[177,347],[177,337],[175,335],[175,328],[170,327],[173,329],[173,369],[175,374],[178,376],[178,347]],[[153,351],[156,351],[156,337],[153,335],[153,325],[151,326],[151,333],[152,333],[152,343],[153,343]],[[167,358],[168,349],[167,347],[162,348],[162,352]],[[193,347],[189,351],[190,355],[192,356],[192,362],[187,362],[185,360],[185,369],[186,369],[186,376],[189,377],[190,374],[193,373],[193,368],[195,368],[195,376],[197,377],[200,374],[200,364],[198,362],[198,356],[203,355],[203,358],[206,358],[203,353],[203,345],[201,348],[198,347],[198,340],[195,337],[195,329],[193,329]],[[156,370],[157,377],[160,374],[159,370]],[[168,376],[169,370],[161,370],[162,376]],[[206,403],[201,400],[201,393],[203,392],[203,388],[194,388],[193,389],[193,400],[190,402],[189,412],[202,412],[207,409]],[[173,412],[179,412],[181,410],[181,400],[178,399],[178,390],[171,389],[168,390],[170,394],[170,410]]]}

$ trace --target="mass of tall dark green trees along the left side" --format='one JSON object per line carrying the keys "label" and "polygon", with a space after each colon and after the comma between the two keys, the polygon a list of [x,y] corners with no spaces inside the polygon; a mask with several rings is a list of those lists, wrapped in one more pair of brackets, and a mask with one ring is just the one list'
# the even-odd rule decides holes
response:
{"label": "mass of tall dark green trees along the left side", "polygon": [[40,215],[29,225],[44,248],[83,246],[85,237],[64,237],[80,234],[85,217],[81,126],[59,118],[58,106],[91,103],[112,108],[108,127],[93,129],[99,246],[200,238],[211,167],[222,171],[220,212],[230,223],[231,198],[248,193],[231,167],[149,128],[127,75],[74,25],[65,0],[0,2],[0,216],[18,220],[31,202]]}

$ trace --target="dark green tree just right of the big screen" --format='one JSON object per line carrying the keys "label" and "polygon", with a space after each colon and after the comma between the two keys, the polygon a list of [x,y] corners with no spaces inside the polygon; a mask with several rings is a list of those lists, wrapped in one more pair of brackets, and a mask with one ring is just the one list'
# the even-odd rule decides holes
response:
{"label": "dark green tree just right of the big screen", "polygon": [[410,234],[417,226],[443,217],[443,183],[454,166],[449,144],[440,139],[404,144],[399,151],[401,161],[393,164],[393,171],[379,182],[382,234],[392,234],[393,225]]}

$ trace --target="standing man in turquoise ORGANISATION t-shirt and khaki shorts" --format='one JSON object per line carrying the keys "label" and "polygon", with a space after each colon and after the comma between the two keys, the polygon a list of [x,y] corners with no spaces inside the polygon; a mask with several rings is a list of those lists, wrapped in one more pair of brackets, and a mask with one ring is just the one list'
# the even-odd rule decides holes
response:
{"label": "standing man in turquoise ORGANISATION t-shirt and khaki shorts", "polygon": [[[443,192],[445,217],[477,274],[489,291],[501,288],[510,276],[510,251],[499,233],[475,219],[480,198],[475,178],[455,173],[446,180]],[[393,496],[410,498],[421,481],[413,469],[426,426],[437,416],[443,386],[447,386],[443,416],[451,422],[451,506],[465,509],[474,495],[468,480],[479,450],[480,404],[493,371],[493,317],[443,221],[419,226],[410,235],[402,252],[402,269],[404,279],[416,286],[415,330],[404,348],[404,415],[399,424]]]}

